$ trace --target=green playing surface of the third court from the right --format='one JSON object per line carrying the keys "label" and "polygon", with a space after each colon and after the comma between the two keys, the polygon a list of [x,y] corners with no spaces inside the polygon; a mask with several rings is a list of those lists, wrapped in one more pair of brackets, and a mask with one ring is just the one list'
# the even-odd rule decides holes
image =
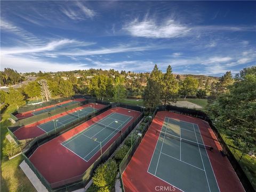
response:
{"label": "green playing surface of the third court from the right", "polygon": [[92,107],[85,107],[83,109],[77,110],[73,113],[69,113],[68,115],[59,117],[57,119],[54,119],[53,121],[37,125],[39,129],[42,129],[45,132],[50,132],[54,129],[58,129],[61,126],[65,126],[65,124],[69,124],[70,122],[77,121],[78,118],[83,118],[86,115],[96,111],[97,109],[94,109]]}

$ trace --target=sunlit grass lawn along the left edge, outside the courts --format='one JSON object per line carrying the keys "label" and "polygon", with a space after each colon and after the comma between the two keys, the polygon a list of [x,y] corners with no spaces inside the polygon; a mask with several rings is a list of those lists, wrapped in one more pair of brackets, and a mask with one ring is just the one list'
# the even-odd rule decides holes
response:
{"label": "sunlit grass lawn along the left edge, outside the courts", "polygon": [[1,114],[1,191],[36,191],[19,167],[19,164],[23,161],[22,155],[11,160],[3,156],[2,149],[6,142],[9,142],[5,138],[5,135],[8,134],[6,127],[11,125],[11,122],[8,120],[10,117],[9,113],[13,113],[15,109],[14,106],[9,106]]}

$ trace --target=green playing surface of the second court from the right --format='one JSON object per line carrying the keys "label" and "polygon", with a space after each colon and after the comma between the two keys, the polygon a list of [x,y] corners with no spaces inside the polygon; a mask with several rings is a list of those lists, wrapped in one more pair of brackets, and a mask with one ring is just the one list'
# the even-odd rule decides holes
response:
{"label": "green playing surface of the second court from the right", "polygon": [[106,145],[133,117],[111,113],[98,122],[94,122],[85,130],[61,143],[77,156],[89,161],[103,146]]}

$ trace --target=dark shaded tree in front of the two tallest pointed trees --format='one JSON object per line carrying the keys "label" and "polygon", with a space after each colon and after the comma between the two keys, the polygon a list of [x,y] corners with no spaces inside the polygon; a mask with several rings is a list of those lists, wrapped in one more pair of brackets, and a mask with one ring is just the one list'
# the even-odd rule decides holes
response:
{"label": "dark shaded tree in front of the two tallest pointed trees", "polygon": [[150,112],[159,105],[161,99],[161,86],[153,79],[149,78],[147,82],[147,86],[143,93],[143,102],[145,106],[149,108]]}

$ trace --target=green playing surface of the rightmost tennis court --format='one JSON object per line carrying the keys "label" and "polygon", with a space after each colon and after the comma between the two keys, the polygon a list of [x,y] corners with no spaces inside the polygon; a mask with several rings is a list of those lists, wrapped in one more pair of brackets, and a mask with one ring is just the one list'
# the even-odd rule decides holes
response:
{"label": "green playing surface of the rightmost tennis court", "polygon": [[197,124],[165,117],[158,134],[150,174],[182,191],[220,191]]}

